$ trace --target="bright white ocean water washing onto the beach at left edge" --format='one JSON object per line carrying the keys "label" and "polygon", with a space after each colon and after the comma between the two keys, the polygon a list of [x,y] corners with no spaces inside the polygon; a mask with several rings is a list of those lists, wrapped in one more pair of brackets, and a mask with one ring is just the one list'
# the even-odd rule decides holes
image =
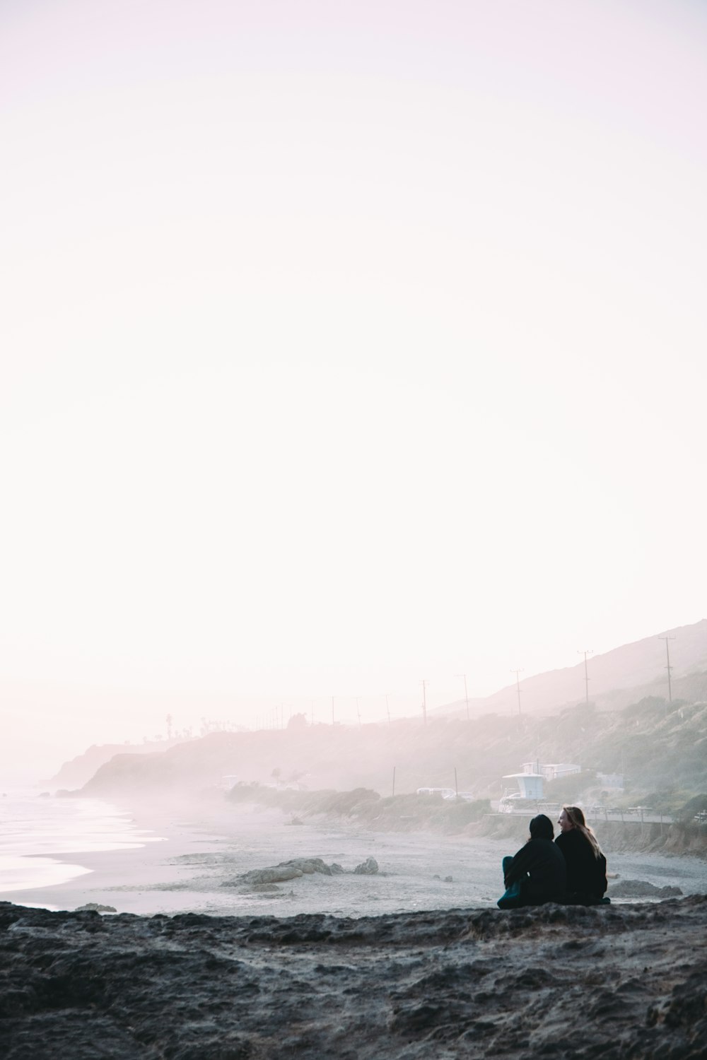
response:
{"label": "bright white ocean water washing onto the beach at left edge", "polygon": [[138,828],[129,812],[103,799],[8,789],[0,793],[0,899],[86,874],[90,869],[81,864],[82,853],[127,850],[159,838]]}

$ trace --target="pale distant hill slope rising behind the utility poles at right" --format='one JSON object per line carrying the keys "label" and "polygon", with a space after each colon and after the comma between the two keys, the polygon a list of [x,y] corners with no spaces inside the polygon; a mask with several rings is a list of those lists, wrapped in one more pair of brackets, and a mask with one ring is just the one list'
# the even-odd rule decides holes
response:
{"label": "pale distant hill slope rising behind the utility poles at right", "polygon": [[[674,630],[657,631],[630,644],[614,648],[587,660],[589,699],[600,708],[626,706],[647,695],[668,696],[666,642],[668,636],[673,697],[707,699],[707,619]],[[586,699],[584,661],[562,670],[550,670],[520,682],[523,713],[554,712]],[[470,701],[474,714],[517,714],[517,688],[508,685],[498,692]],[[463,700],[437,708],[436,713],[465,717]]]}

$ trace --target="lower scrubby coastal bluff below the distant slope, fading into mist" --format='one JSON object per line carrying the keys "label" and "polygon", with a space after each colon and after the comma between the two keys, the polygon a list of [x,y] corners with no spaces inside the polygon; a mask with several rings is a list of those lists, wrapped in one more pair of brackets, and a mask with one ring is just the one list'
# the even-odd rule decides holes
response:
{"label": "lower scrubby coastal bluff below the distant slope, fading into mist", "polygon": [[[489,714],[391,725],[306,724],[285,729],[213,732],[161,754],[117,755],[82,794],[188,794],[234,783],[272,783],[310,790],[372,789],[382,795],[443,787],[475,798],[498,798],[524,762],[573,762],[581,774],[548,784],[547,797],[601,797],[597,774],[622,774],[625,791],[604,793],[613,803],[651,797],[662,812],[679,810],[707,792],[707,702],[672,704],[650,696],[618,710],[582,704],[551,717]],[[455,774],[456,771],[456,774]]]}

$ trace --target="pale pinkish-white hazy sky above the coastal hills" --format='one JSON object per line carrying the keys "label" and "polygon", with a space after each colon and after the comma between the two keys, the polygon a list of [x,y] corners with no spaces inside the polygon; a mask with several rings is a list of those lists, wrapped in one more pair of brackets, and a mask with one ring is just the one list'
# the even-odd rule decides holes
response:
{"label": "pale pinkish-white hazy sky above the coastal hills", "polygon": [[367,721],[705,617],[704,4],[0,38],[1,682]]}

